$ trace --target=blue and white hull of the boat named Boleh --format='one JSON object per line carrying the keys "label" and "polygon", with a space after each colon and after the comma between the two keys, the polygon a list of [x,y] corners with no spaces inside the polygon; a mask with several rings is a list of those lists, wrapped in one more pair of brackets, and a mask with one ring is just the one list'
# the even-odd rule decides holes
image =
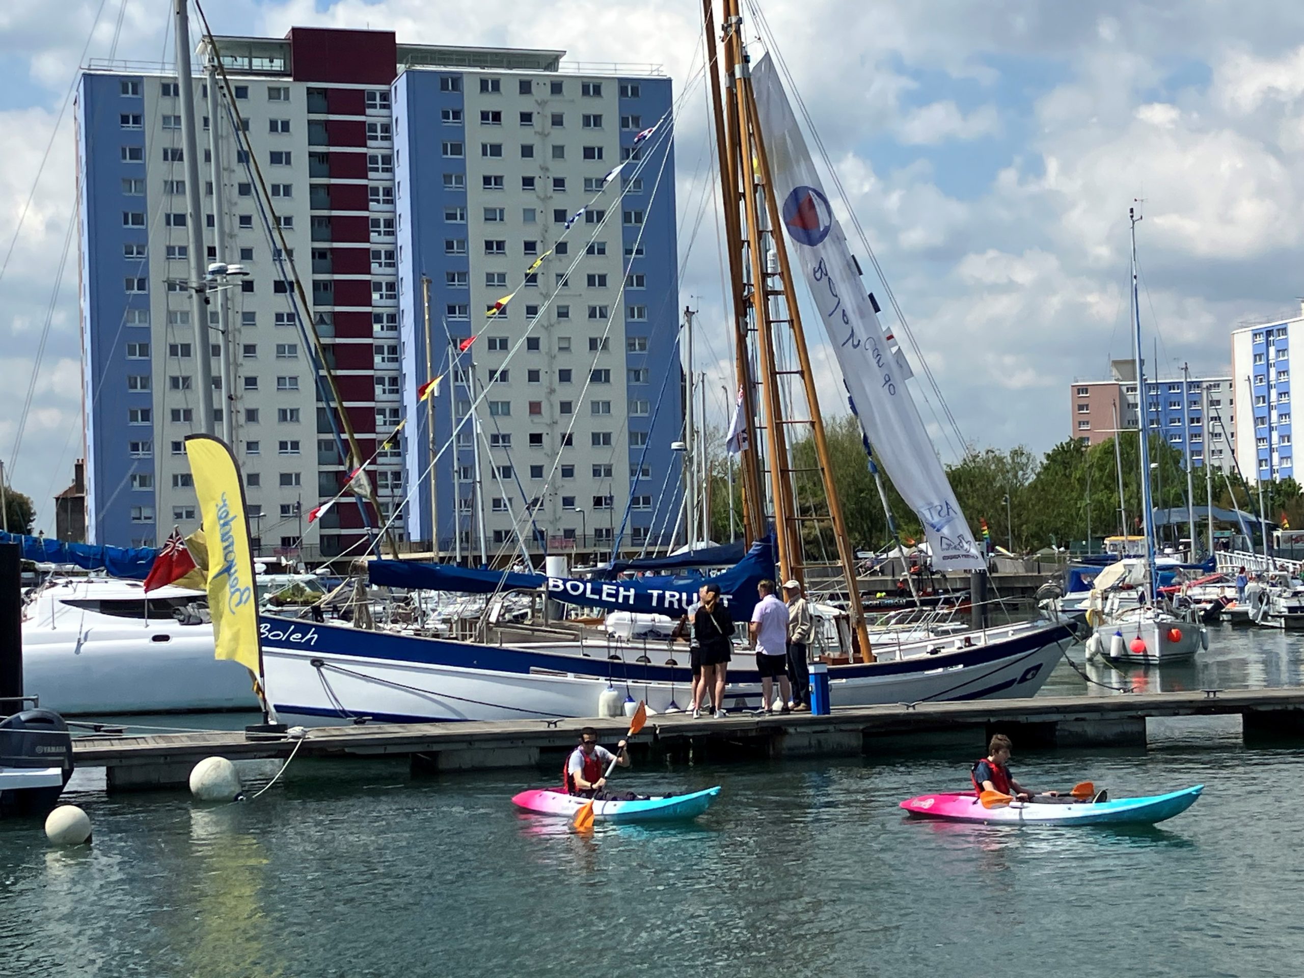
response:
{"label": "blue and white hull of the boat named Boleh", "polygon": [[[587,657],[575,645],[477,645],[275,618],[261,627],[267,695],[289,722],[587,717],[600,713],[609,687],[657,712],[690,699],[686,648],[682,664],[664,665]],[[1031,696],[1073,630],[1068,622],[1011,626],[932,639],[913,655],[901,647],[893,661],[835,665],[831,699],[850,707]],[[751,655],[735,655],[733,666],[725,707],[759,707]]]}

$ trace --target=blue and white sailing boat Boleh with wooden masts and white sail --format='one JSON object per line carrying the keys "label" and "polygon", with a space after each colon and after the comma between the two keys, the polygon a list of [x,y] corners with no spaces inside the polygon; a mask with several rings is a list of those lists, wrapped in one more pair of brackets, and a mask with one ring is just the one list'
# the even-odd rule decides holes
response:
{"label": "blue and white sailing boat Boleh with wooden masts and white sail", "polygon": [[[859,283],[776,65],[767,56],[748,70],[739,3],[722,4],[728,27],[719,51],[713,0],[703,4],[704,35],[712,46],[711,95],[728,202],[734,352],[748,446],[738,466],[743,523],[756,542],[742,561],[709,580],[721,585],[734,619],[745,621],[762,578],[816,583],[816,565],[805,559],[803,548],[807,536],[831,533],[838,558],[828,572],[841,575],[836,589],[846,604],[845,617],[828,630],[833,647],[825,649],[835,705],[1031,696],[1061,656],[1063,643],[1073,640],[1074,623],[1037,621],[930,636],[895,644],[887,655],[870,644],[854,552],[831,476],[789,241],[798,248],[867,446],[919,515],[934,561],[947,570],[985,571],[985,559],[911,399],[904,357]],[[728,98],[721,95],[721,80]],[[604,192],[623,193],[623,188],[613,181]],[[608,205],[605,213],[621,209]],[[792,389],[805,395],[805,417],[785,400],[789,377],[799,378]],[[811,499],[798,499],[798,469],[788,441],[792,425],[806,425],[818,450],[822,498],[816,502],[824,503],[823,515],[812,514]],[[675,617],[703,583],[675,576],[604,583],[396,559],[370,561],[368,575],[376,585],[481,593],[535,589],[572,605]],[[572,643],[482,645],[270,618],[261,622],[261,638],[270,700],[283,719],[304,722],[593,716],[618,711],[622,691],[629,703],[636,694],[664,712],[691,679],[673,653],[664,664],[645,655],[627,661],[617,648],[600,660]],[[726,707],[756,705],[759,695],[755,668],[730,670]]]}

